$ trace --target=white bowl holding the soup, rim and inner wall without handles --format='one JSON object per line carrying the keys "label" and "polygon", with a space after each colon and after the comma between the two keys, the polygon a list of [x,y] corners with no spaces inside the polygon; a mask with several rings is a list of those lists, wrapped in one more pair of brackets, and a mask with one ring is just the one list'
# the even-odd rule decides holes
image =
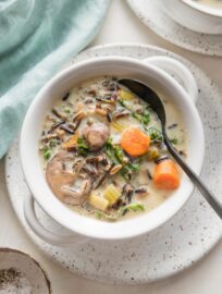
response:
{"label": "white bowl holding the soup, rim and inner wall without handles", "polygon": [[[194,188],[187,176],[183,175],[180,188],[157,209],[133,219],[109,223],[83,217],[63,205],[47,185],[40,167],[38,138],[40,123],[47,110],[51,108],[57,98],[64,95],[75,84],[101,75],[137,78],[165,93],[183,113],[184,124],[189,136],[187,163],[197,174],[200,173],[205,139],[201,121],[192,98],[163,70],[144,61],[122,57],[97,58],[79,62],[58,74],[40,90],[27,111],[22,128],[20,145],[22,167],[35,200],[52,219],[71,230],[72,234],[77,233],[100,240],[135,237],[158,228],[183,207]],[[37,225],[33,225],[34,230],[35,228]],[[46,234],[41,235],[45,237]],[[49,240],[49,237],[45,237],[45,240]]]}

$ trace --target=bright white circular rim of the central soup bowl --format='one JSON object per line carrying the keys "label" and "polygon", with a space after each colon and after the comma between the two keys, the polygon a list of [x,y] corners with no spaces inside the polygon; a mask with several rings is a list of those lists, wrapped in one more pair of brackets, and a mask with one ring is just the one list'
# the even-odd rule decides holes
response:
{"label": "bright white circular rim of the central soup bowl", "polygon": [[[164,81],[168,85],[170,84],[171,86],[174,87],[174,90],[180,93],[182,99],[185,100],[185,103],[189,108],[189,111],[193,112],[193,120],[195,122],[195,125],[198,130],[198,136],[199,136],[199,142],[200,148],[198,149],[198,162],[196,162],[196,166],[193,167],[193,169],[196,171],[197,174],[200,173],[202,162],[203,162],[203,156],[205,156],[205,135],[203,135],[203,128],[201,124],[201,120],[199,117],[199,113],[193,102],[193,100],[188,97],[188,95],[183,90],[182,86],[175,84],[175,81],[173,77],[171,77],[169,74],[162,72],[162,70],[157,69],[157,66],[144,63],[140,60],[136,60],[133,58],[126,58],[126,57],[103,57],[103,58],[96,58],[96,59],[90,59],[86,61],[78,62],[76,64],[73,64],[72,66],[63,70],[61,73],[57,74],[54,77],[52,77],[51,81],[49,81],[42,88],[41,90],[37,94],[35,99],[33,100],[26,115],[25,120],[23,123],[22,132],[21,132],[21,140],[20,140],[20,152],[21,152],[21,162],[22,162],[22,168],[23,172],[25,174],[25,179],[27,182],[27,185],[30,189],[30,192],[34,195],[35,200],[40,205],[40,207],[57,222],[59,222],[61,225],[64,228],[69,229],[73,233],[77,233],[84,236],[92,237],[92,238],[98,238],[98,240],[124,240],[124,238],[130,238],[130,237],[135,237],[141,234],[145,234],[147,232],[152,231],[153,229],[157,229],[158,226],[162,225],[165,223],[168,220],[170,220],[183,206],[184,204],[189,199],[194,186],[193,184],[187,181],[186,186],[184,185],[184,188],[187,189],[186,193],[181,193],[182,195],[176,195],[177,192],[174,193],[174,196],[178,196],[180,199],[177,200],[176,205],[172,205],[172,199],[174,198],[173,195],[164,201],[162,205],[160,205],[158,208],[151,210],[148,213],[144,213],[141,216],[124,220],[124,221],[119,221],[114,223],[109,223],[109,222],[103,222],[100,220],[95,220],[88,217],[83,217],[78,215],[77,212],[72,211],[70,208],[67,208],[62,201],[60,201],[51,192],[49,188],[46,180],[44,179],[44,185],[45,185],[45,193],[46,191],[50,194],[51,203],[49,206],[46,205],[46,200],[42,199],[39,195],[41,194],[41,186],[38,185],[36,187],[36,182],[32,176],[32,171],[33,171],[33,166],[32,163],[27,160],[25,160],[27,152],[32,152],[26,144],[25,144],[25,136],[28,127],[32,127],[29,124],[29,120],[32,120],[32,115],[34,113],[34,110],[36,106],[38,105],[39,100],[42,100],[45,95],[50,90],[50,88],[58,83],[58,81],[62,81],[69,74],[71,74],[73,71],[76,72],[79,68],[84,66],[91,66],[97,63],[99,66],[103,64],[103,62],[110,62],[112,64],[113,62],[126,62],[131,63],[131,66],[133,65],[138,65],[140,68],[144,68],[144,70],[149,70],[151,73],[161,76],[161,79]],[[83,78],[84,81],[84,78]],[[73,83],[74,84],[74,83]],[[33,151],[34,152],[34,151]],[[38,155],[30,155],[30,157],[35,157]],[[39,159],[38,159],[39,160]],[[29,173],[30,172],[30,173]],[[42,176],[44,172],[40,171]],[[185,176],[185,175],[183,175]],[[187,187],[188,186],[188,187]],[[51,205],[53,203],[53,205]],[[172,209],[173,207],[173,209]],[[170,213],[169,213],[169,209]],[[58,213],[58,211],[62,213]],[[64,218],[64,213],[66,213],[66,217]],[[155,218],[156,215],[158,213],[159,218]],[[160,217],[161,216],[161,217]],[[149,223],[149,219],[152,219],[152,223]],[[73,220],[72,220],[73,219]],[[72,220],[72,221],[71,221]],[[146,221],[145,221],[146,220]],[[140,222],[139,222],[140,221]],[[79,223],[81,223],[81,229],[79,229]],[[124,225],[125,224],[125,225]],[[143,224],[143,225],[141,225]],[[96,225],[96,226],[95,226]],[[118,228],[118,232],[115,229]],[[125,226],[125,228],[124,228]],[[126,229],[126,226],[130,226],[131,229]],[[99,228],[98,230],[95,230],[95,228]],[[133,228],[137,228],[135,231]],[[111,233],[110,233],[111,230]]]}

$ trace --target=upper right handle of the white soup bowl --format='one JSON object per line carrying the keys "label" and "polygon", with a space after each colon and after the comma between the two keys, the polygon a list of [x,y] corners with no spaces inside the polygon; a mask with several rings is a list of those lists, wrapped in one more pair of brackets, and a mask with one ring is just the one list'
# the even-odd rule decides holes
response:
{"label": "upper right handle of the white soup bowl", "polygon": [[[180,81],[182,81],[183,88],[193,98],[196,103],[198,98],[198,87],[192,72],[180,61],[169,58],[169,57],[150,57],[144,59],[145,62],[152,64],[168,74],[171,73],[175,75]],[[181,85],[180,85],[181,86]]]}

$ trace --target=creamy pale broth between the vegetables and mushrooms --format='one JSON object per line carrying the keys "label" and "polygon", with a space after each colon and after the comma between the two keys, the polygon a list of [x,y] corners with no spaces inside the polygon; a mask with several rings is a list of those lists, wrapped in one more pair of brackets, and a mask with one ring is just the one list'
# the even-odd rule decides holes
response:
{"label": "creamy pale broth between the vegetables and mushrooms", "polygon": [[[104,77],[104,76],[84,82],[81,85],[73,87],[69,91],[67,97],[61,97],[60,99],[58,99],[53,108],[55,107],[57,109],[59,109],[60,112],[62,113],[62,117],[63,115],[70,117],[71,120],[73,119],[73,115],[74,115],[73,113],[76,113],[79,111],[87,112],[87,115],[81,120],[81,124],[77,127],[76,132],[78,134],[83,134],[89,121],[90,123],[92,122],[92,124],[96,122],[103,123],[109,126],[109,130],[110,130],[109,138],[112,138],[112,145],[120,147],[122,133],[125,128],[130,126],[139,127],[140,130],[143,128],[141,123],[138,120],[138,118],[134,118],[132,113],[137,113],[137,112],[139,113],[139,111],[144,110],[147,107],[147,105],[136,96],[133,96],[133,99],[125,99],[125,100],[121,99],[124,101],[124,107],[121,106],[119,102],[115,102],[114,107],[113,105],[111,105],[112,109],[111,111],[109,110],[109,113],[110,113],[110,117],[112,118],[112,121],[109,122],[107,115],[103,115],[104,113],[100,110],[107,110],[107,108],[109,108],[110,105],[103,101],[95,100],[96,99],[95,97],[97,96],[106,97],[106,96],[109,96],[111,93],[112,94],[114,93],[114,90],[112,89],[113,87],[111,87],[111,90],[110,90],[108,89],[109,87],[104,86],[107,84],[109,85],[109,83],[111,83],[112,85],[113,83],[112,78]],[[116,86],[115,81],[114,81],[114,85]],[[118,87],[121,87],[121,86],[118,85]],[[124,87],[121,87],[121,89],[118,89],[118,93],[120,93],[121,90],[123,93],[124,91],[130,93],[130,90]],[[162,101],[164,103],[165,111],[166,111],[166,118],[168,118],[166,127],[168,127],[169,137],[172,138],[175,149],[177,149],[183,157],[186,157],[187,133],[186,133],[186,130],[184,128],[181,112],[178,111],[178,109],[175,108],[175,106],[172,105],[170,99],[163,96],[161,96],[161,98],[162,98]],[[119,96],[116,99],[119,99]],[[102,106],[102,108],[100,108],[99,111],[95,113],[95,105],[98,102]],[[114,120],[113,119],[114,111],[119,108],[126,109],[127,111],[131,112],[131,114],[124,118]],[[160,122],[157,118],[157,114],[151,109],[148,110],[148,113],[149,113],[149,124],[146,126],[146,130],[151,130],[152,127],[153,128],[156,127],[161,131]],[[67,142],[69,138],[73,136],[73,134],[70,134],[65,132],[64,130],[60,128],[60,126],[54,128],[53,132],[50,132],[50,130],[52,128],[52,125],[57,125],[61,121],[63,121],[63,119],[58,118],[58,115],[55,115],[53,112],[51,112],[51,110],[49,110],[48,113],[46,114],[46,119],[42,122],[40,138],[39,138],[39,157],[42,164],[44,173],[47,172],[47,167],[49,167],[50,161],[54,158],[54,156],[58,155],[58,152],[60,152],[63,149],[62,144]],[[120,131],[120,127],[122,127],[123,130]],[[143,132],[146,133],[144,128],[143,128]],[[59,136],[57,137],[58,134]],[[52,136],[52,138],[45,140],[47,136]],[[50,146],[51,142],[53,142],[53,144],[51,144],[52,146]],[[150,144],[151,147],[149,149],[151,150],[151,148],[153,147],[156,148],[156,145],[158,146],[157,149],[161,157],[169,156],[168,150],[165,149],[162,143],[161,144],[151,143]],[[106,147],[102,147],[102,148],[104,149]],[[48,156],[46,156],[47,154],[46,150],[48,152]],[[99,150],[99,152],[101,150]],[[123,150],[121,149],[121,151]],[[76,150],[70,151],[72,156],[75,152]],[[98,151],[96,151],[96,154],[97,152]],[[91,154],[94,155],[94,152]],[[128,155],[124,151],[123,154],[124,154],[124,157],[128,159]],[[76,155],[75,155],[75,158],[76,158]],[[109,160],[110,158],[108,158],[108,161]],[[67,204],[65,205],[67,205],[71,209],[73,209],[74,211],[77,211],[81,215],[109,221],[109,220],[122,220],[122,219],[139,216],[140,213],[144,213],[144,212],[148,212],[155,209],[156,207],[158,207],[159,205],[161,205],[168,197],[171,196],[173,191],[159,189],[153,185],[153,181],[151,177],[152,177],[152,174],[157,164],[155,160],[150,159],[149,151],[141,157],[138,157],[138,158],[134,157],[133,159],[130,158],[130,160],[133,160],[133,164],[135,164],[138,168],[137,169],[138,171],[135,174],[133,173],[132,179],[126,180],[121,174],[122,170],[112,175],[108,174],[106,176],[106,180],[99,187],[90,191],[89,196],[85,198],[84,203],[82,203],[81,205],[67,205]],[[71,166],[69,167],[69,169],[72,168]],[[115,162],[115,166],[118,166],[116,162]],[[122,166],[123,168],[125,167],[124,164]],[[182,176],[181,171],[180,171],[180,176]],[[79,187],[83,181],[84,180],[82,179],[81,180],[77,179],[74,183],[74,186]],[[96,195],[97,197],[104,198],[104,191],[109,185],[114,185],[114,187],[119,188],[119,192],[123,193],[123,187],[126,185],[126,183],[133,186],[134,192],[133,192],[131,201],[125,204],[125,207],[132,204],[140,204],[143,206],[143,209],[138,209],[138,211],[136,212],[126,210],[127,213],[116,217],[116,215],[119,213],[116,211],[124,208],[124,205],[122,206],[120,205],[120,207],[118,207],[116,204],[113,204],[111,208],[108,207],[108,209],[103,210],[103,209],[94,207],[89,203],[89,200],[87,200],[91,197],[90,195]],[[146,188],[145,193],[139,193],[139,188],[141,187]],[[120,199],[122,199],[121,197]],[[113,208],[115,206],[118,207],[116,209]]]}

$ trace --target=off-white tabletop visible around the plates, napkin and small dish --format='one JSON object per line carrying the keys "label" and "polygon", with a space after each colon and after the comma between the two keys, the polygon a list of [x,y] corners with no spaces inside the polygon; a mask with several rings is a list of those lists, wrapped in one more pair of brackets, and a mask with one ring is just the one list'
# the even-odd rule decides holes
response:
{"label": "off-white tabletop visible around the plates, napkin and small dish", "polygon": [[[148,0],[147,0],[148,1]],[[134,15],[124,0],[111,0],[111,5],[100,34],[90,46],[113,42],[151,44],[172,50],[189,59],[222,86],[222,58],[211,58],[180,49],[156,36]],[[14,247],[35,257],[46,269],[53,294],[221,294],[222,242],[213,250],[186,271],[152,284],[113,286],[78,278],[49,260],[32,243],[18,223],[8,198],[4,181],[4,161],[0,161],[0,246]]]}

